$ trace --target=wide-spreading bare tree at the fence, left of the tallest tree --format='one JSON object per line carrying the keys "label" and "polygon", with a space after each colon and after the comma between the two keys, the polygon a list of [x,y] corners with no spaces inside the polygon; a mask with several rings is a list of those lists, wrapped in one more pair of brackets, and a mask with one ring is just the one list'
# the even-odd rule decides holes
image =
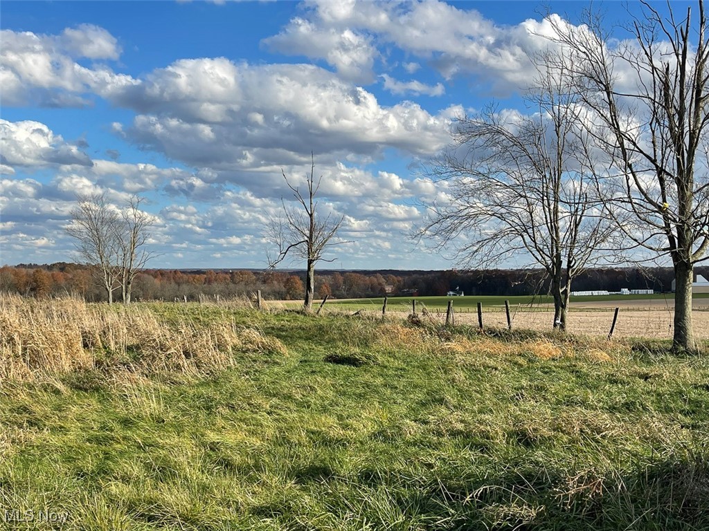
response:
{"label": "wide-spreading bare tree at the fence, left of the tallest tree", "polygon": [[540,265],[554,298],[554,328],[566,330],[571,283],[603,259],[613,227],[586,166],[592,162],[576,115],[577,94],[545,52],[525,95],[529,115],[494,107],[458,120],[454,142],[430,173],[449,200],[430,206],[418,232],[454,247],[460,263],[489,266],[520,254]]}

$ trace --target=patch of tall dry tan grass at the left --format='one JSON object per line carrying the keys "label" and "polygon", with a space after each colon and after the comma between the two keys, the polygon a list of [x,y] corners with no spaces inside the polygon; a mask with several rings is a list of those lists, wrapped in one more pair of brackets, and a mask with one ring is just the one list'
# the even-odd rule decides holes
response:
{"label": "patch of tall dry tan grass at the left", "polygon": [[286,354],[277,339],[230,322],[168,323],[138,305],[0,295],[0,380],[82,369],[213,372],[234,365],[237,351]]}

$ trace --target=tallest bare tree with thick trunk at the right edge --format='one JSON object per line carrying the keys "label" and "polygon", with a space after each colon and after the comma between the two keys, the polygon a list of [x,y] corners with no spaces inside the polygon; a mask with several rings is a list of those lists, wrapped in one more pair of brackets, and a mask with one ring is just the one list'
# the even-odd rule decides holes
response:
{"label": "tallest bare tree with thick trunk at the right edge", "polygon": [[610,217],[629,247],[669,256],[676,282],[676,349],[693,350],[692,282],[709,249],[709,35],[698,17],[661,16],[643,2],[631,39],[613,45],[601,20],[557,28],[573,51],[588,131],[607,156],[599,174]]}

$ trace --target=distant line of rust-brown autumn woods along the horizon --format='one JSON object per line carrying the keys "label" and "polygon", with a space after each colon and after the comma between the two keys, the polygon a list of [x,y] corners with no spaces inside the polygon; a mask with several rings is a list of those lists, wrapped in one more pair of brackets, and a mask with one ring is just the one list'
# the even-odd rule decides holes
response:
{"label": "distant line of rust-brown autumn woods along the horizon", "polygon": [[[709,267],[696,272],[709,277]],[[603,268],[579,275],[575,290],[620,291],[621,288],[669,292],[674,273],[671,268]],[[303,295],[305,271],[254,270],[144,270],[134,280],[136,300],[200,297],[229,299],[250,296],[257,290],[267,299],[296,300]],[[542,270],[444,270],[444,271],[323,271],[318,275],[315,296],[337,299],[446,295],[450,290],[465,295],[533,295],[549,292],[549,276]],[[91,302],[106,300],[106,290],[94,282],[90,267],[58,262],[50,265],[19,264],[0,268],[0,291],[30,297],[74,294]]]}

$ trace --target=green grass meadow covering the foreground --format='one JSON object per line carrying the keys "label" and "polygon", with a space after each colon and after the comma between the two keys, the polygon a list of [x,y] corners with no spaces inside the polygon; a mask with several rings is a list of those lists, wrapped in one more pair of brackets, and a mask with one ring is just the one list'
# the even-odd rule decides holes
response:
{"label": "green grass meadow covering the foreground", "polygon": [[[69,518],[0,528],[709,528],[709,357],[662,343],[151,308],[257,327],[289,355],[245,357],[208,378],[4,382],[0,518]],[[538,345],[559,355],[541,359]],[[598,348],[610,361],[591,355]]]}

